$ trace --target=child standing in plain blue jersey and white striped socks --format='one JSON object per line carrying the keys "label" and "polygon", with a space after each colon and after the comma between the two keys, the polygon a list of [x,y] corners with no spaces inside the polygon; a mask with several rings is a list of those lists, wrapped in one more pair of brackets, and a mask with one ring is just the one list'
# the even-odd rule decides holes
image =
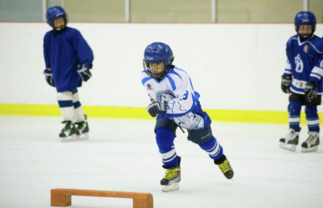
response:
{"label": "child standing in plain blue jersey and white striped socks", "polygon": [[77,29],[67,27],[68,18],[62,7],[48,8],[46,19],[53,30],[44,37],[44,74],[48,84],[57,90],[65,124],[59,137],[62,141],[87,139],[89,129],[77,88],[91,77],[92,50]]}

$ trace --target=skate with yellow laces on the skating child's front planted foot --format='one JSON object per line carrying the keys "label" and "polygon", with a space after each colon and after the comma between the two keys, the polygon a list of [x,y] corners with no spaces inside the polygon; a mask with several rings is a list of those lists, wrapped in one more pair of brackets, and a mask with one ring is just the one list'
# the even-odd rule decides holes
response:
{"label": "skate with yellow laces on the skating child's front planted foot", "polygon": [[180,157],[178,157],[177,161],[178,166],[167,168],[165,166],[162,166],[166,169],[165,176],[163,177],[163,179],[161,179],[161,190],[163,192],[169,192],[179,189],[178,182],[180,182]]}

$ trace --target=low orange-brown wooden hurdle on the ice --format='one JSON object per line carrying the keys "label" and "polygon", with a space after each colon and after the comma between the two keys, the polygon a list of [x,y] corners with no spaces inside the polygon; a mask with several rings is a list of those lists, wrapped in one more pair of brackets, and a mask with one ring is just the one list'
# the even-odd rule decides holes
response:
{"label": "low orange-brown wooden hurdle on the ice", "polygon": [[150,193],[95,191],[82,189],[52,189],[51,206],[71,206],[71,196],[131,198],[133,199],[133,208],[154,208],[153,195]]}

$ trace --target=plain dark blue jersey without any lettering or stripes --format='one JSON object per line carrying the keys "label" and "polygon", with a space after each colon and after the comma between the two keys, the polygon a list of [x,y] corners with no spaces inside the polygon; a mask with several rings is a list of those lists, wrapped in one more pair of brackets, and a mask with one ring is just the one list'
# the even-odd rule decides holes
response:
{"label": "plain dark blue jersey without any lettering or stripes", "polygon": [[93,52],[80,31],[66,27],[58,34],[54,30],[45,34],[44,58],[46,68],[52,69],[57,91],[72,91],[82,85],[78,65],[91,68]]}

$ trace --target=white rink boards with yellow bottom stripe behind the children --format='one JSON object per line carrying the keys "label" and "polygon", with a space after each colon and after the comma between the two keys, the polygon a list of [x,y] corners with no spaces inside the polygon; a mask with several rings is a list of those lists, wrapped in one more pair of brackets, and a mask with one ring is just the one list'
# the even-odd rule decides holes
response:
{"label": "white rink boards with yellow bottom stripe behind the children", "polygon": [[[79,89],[89,117],[149,119],[140,72],[145,47],[167,43],[212,120],[287,123],[280,89],[293,24],[70,23],[94,52],[92,78]],[[60,116],[44,78],[46,23],[0,23],[0,115]],[[316,34],[323,36],[323,25]],[[323,106],[319,106],[321,121]],[[304,113],[303,113],[304,114]],[[304,123],[304,115],[303,120]],[[321,122],[322,124],[322,122]]]}

